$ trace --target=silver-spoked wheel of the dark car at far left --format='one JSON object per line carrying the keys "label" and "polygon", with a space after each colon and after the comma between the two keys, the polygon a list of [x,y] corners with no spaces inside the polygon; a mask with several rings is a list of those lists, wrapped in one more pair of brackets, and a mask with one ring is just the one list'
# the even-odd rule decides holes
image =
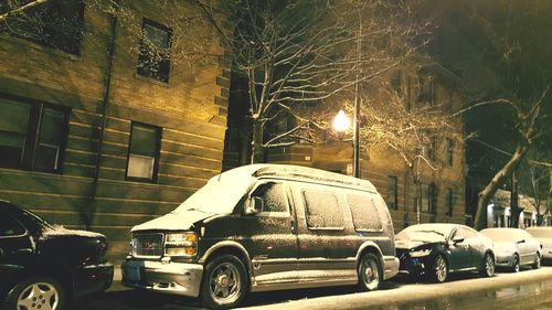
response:
{"label": "silver-spoked wheel of the dark car at far left", "polygon": [[63,310],[65,289],[51,277],[31,277],[20,281],[6,298],[6,309]]}

